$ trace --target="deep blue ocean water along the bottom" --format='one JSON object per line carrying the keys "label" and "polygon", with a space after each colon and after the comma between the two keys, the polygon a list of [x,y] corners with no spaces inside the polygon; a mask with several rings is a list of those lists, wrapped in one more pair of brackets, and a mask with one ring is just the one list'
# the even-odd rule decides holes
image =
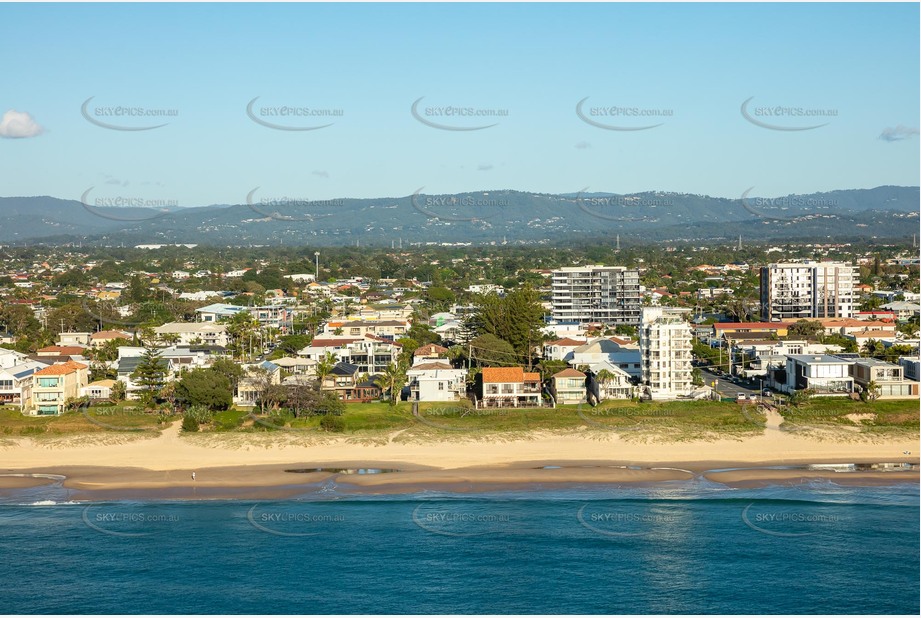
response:
{"label": "deep blue ocean water along the bottom", "polygon": [[919,613],[916,485],[0,500],[5,613]]}

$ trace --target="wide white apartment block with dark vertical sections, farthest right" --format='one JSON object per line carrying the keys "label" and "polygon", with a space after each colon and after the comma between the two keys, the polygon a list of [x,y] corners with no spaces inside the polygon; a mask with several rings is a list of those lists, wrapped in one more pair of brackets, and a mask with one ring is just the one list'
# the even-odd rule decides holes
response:
{"label": "wide white apartment block with dark vertical sections, farthest right", "polygon": [[761,268],[764,321],[850,318],[857,268],[846,262],[789,262]]}

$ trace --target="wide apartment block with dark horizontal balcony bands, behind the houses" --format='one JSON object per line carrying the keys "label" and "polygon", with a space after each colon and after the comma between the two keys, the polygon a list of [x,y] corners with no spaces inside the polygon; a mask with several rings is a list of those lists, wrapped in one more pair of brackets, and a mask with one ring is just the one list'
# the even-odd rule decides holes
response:
{"label": "wide apartment block with dark horizontal balcony bands, behind the houses", "polygon": [[623,266],[566,266],[551,280],[553,319],[561,322],[638,324],[640,271]]}

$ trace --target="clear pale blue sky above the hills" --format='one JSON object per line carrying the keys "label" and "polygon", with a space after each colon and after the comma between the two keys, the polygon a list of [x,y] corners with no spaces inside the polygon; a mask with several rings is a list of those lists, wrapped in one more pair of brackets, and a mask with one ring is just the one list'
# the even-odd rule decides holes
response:
{"label": "clear pale blue sky above the hills", "polygon": [[0,23],[0,196],[919,184],[918,4],[0,4]]}

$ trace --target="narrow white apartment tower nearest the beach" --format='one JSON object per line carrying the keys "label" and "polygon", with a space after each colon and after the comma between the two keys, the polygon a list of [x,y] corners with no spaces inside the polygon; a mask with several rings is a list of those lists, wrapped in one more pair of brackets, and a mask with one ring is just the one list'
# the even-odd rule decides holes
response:
{"label": "narrow white apartment tower nearest the beach", "polygon": [[642,383],[652,399],[674,399],[693,389],[689,313],[690,309],[643,307]]}

